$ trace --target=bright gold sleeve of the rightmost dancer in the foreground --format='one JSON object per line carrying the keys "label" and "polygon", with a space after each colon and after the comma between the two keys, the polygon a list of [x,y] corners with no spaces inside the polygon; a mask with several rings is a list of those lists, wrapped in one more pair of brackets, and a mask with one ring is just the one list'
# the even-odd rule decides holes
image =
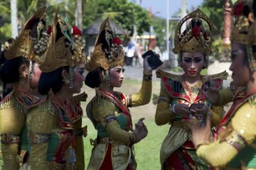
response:
{"label": "bright gold sleeve of the rightmost dancer in the foreground", "polygon": [[[256,106],[245,104],[231,119],[230,132],[224,139],[201,145],[197,155],[211,166],[221,167],[228,164],[247,144],[256,137]],[[228,131],[228,129],[227,129]]]}

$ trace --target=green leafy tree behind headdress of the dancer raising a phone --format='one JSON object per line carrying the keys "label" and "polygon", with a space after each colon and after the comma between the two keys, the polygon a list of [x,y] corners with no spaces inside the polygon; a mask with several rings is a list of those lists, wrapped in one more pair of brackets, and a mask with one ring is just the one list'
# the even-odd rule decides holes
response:
{"label": "green leafy tree behind headdress of the dancer raising a phone", "polygon": [[92,25],[101,16],[112,16],[112,20],[119,23],[123,29],[133,34],[133,22],[138,28],[138,34],[149,31],[151,19],[148,12],[127,0],[95,0],[85,1],[83,10],[84,28]]}

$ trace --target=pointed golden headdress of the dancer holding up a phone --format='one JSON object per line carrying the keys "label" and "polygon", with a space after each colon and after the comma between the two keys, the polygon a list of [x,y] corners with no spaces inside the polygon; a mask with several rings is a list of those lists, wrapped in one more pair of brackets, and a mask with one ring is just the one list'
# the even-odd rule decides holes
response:
{"label": "pointed golden headdress of the dancer holding up a phone", "polygon": [[108,70],[115,66],[123,66],[123,59],[122,41],[118,37],[114,37],[109,18],[106,18],[101,23],[94,51],[90,57],[86,58],[85,68],[88,71],[97,67]]}

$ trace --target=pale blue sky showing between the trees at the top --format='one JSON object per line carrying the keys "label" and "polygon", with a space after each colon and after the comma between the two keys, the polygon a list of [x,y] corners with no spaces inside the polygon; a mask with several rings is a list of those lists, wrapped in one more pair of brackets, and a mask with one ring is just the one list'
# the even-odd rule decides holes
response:
{"label": "pale blue sky showing between the trees at the top", "polygon": [[[133,2],[132,0],[129,0]],[[187,9],[198,7],[203,0],[187,0]],[[181,8],[182,0],[169,0],[169,17],[173,16]],[[166,0],[142,0],[141,6],[145,9],[152,7],[152,13],[155,16],[166,18]]]}

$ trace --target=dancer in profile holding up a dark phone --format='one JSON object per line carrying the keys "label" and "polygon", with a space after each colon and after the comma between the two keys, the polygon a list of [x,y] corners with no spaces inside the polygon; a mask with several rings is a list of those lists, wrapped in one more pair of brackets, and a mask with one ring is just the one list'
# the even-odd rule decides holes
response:
{"label": "dancer in profile holding up a dark phone", "polygon": [[133,144],[147,135],[142,119],[132,128],[132,115],[128,107],[150,102],[152,69],[144,60],[143,82],[138,93],[124,95],[114,91],[123,81],[122,41],[114,36],[109,19],[105,19],[98,34],[94,51],[86,59],[86,85],[96,88],[96,95],[87,105],[87,115],[97,130],[88,169],[136,169]]}

